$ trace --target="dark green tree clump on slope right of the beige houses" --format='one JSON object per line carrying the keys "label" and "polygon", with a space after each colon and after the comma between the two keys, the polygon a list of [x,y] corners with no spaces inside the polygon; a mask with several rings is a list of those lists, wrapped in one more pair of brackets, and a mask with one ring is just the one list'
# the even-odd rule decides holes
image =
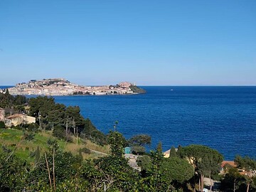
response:
{"label": "dark green tree clump on slope right of the beige houses", "polygon": [[[28,104],[30,105],[30,114],[37,117],[38,124],[42,124],[44,129],[55,127],[53,133],[55,137],[71,141],[66,133],[73,132],[73,134],[76,134],[76,130],[78,130],[78,134],[84,139],[90,139],[100,145],[107,144],[105,134],[97,130],[90,119],[82,117],[80,107],[65,107],[63,104],[55,103],[53,97],[46,96],[31,98]],[[67,129],[65,135],[60,129],[61,126],[63,126],[63,131]]]}

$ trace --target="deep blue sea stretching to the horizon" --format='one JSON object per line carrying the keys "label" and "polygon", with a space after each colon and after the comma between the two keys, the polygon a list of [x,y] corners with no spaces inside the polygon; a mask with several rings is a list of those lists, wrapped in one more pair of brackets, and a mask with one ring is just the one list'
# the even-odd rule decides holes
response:
{"label": "deep blue sea stretching to the horizon", "polygon": [[255,86],[144,86],[138,95],[55,96],[64,105],[79,106],[97,129],[117,131],[129,139],[149,134],[163,151],[202,144],[217,149],[224,159],[235,155],[256,158]]}

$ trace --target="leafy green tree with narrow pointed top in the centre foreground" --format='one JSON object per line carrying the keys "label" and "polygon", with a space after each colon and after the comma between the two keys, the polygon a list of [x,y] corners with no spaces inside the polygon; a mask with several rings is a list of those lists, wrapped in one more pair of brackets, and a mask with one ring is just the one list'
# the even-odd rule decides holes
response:
{"label": "leafy green tree with narrow pointed top in the centre foreground", "polygon": [[134,191],[138,174],[123,156],[126,140],[121,133],[110,131],[107,141],[112,155],[95,159],[95,168],[102,174],[102,183],[105,183],[103,190]]}

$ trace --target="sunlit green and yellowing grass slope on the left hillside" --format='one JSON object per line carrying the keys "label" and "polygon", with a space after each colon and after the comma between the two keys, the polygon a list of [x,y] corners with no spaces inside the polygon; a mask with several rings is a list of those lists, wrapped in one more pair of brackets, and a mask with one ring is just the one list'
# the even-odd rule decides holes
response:
{"label": "sunlit green and yellowing grass slope on the left hillside", "polygon": [[[0,129],[0,151],[3,151],[3,146],[14,151],[14,155],[20,157],[23,160],[28,161],[33,164],[34,158],[31,157],[31,152],[36,151],[36,148],[39,146],[41,151],[46,151],[48,149],[47,141],[48,139],[56,139],[60,149],[64,151],[70,151],[72,154],[78,154],[79,150],[86,147],[87,149],[92,149],[95,151],[100,151],[105,154],[109,154],[109,146],[100,146],[90,142],[90,140],[78,139],[78,144],[76,144],[76,138],[73,137],[73,143],[67,143],[63,139],[57,139],[53,137],[51,131],[47,132],[38,132],[35,134],[33,140],[22,140],[23,131],[17,129]],[[100,154],[84,154],[82,153],[84,159],[95,159]]]}

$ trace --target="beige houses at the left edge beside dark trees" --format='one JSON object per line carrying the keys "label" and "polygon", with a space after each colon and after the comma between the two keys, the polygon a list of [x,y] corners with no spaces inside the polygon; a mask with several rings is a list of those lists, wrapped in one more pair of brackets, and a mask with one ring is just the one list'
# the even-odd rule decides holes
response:
{"label": "beige houses at the left edge beside dark trees", "polygon": [[0,122],[4,122],[6,127],[13,127],[20,124],[31,124],[36,122],[36,117],[26,114],[12,114],[5,117],[5,110],[0,107]]}

